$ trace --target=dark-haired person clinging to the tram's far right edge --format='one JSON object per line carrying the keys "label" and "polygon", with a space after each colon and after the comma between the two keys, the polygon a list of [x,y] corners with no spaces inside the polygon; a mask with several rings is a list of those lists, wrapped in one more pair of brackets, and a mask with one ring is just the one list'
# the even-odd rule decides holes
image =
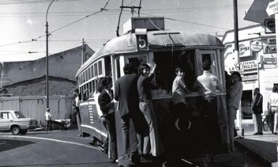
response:
{"label": "dark-haired person clinging to the tram's far right edge", "polygon": [[236,110],[238,110],[241,96],[243,95],[243,83],[239,72],[233,72],[231,74],[231,79],[233,80],[233,84],[227,92],[227,109],[230,151],[234,152],[234,120],[236,119]]}

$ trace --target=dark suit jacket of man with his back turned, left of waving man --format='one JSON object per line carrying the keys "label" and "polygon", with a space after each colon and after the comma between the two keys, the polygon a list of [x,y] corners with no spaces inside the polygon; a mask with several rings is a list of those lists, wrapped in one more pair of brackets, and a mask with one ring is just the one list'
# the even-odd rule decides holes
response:
{"label": "dark suit jacket of man with his back turned, left of waving man", "polygon": [[121,117],[136,111],[139,106],[137,90],[137,74],[125,74],[115,83],[115,100],[119,102],[118,110]]}

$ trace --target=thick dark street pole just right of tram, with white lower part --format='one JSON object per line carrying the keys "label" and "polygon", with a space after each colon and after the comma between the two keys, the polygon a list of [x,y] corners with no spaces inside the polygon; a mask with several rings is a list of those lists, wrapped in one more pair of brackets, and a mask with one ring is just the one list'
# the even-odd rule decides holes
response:
{"label": "thick dark street pole just right of tram, with white lower part", "polygon": [[[238,52],[238,0],[234,0],[234,45],[234,54],[236,54],[237,63],[240,63]],[[244,136],[242,127],[241,100],[239,103],[238,111],[236,113],[236,120],[239,129],[239,136]]]}

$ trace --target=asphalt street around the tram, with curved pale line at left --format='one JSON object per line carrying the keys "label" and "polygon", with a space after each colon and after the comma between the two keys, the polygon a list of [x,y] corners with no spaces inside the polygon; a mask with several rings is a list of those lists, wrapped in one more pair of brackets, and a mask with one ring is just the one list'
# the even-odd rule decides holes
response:
{"label": "asphalt street around the tram, with curved pale line at left", "polygon": [[[28,132],[26,135],[0,133],[0,166],[108,166],[113,164],[103,152],[90,145],[91,138],[78,137],[75,129],[52,132]],[[184,166],[263,167],[247,150],[236,146],[231,154],[216,154],[185,159]]]}

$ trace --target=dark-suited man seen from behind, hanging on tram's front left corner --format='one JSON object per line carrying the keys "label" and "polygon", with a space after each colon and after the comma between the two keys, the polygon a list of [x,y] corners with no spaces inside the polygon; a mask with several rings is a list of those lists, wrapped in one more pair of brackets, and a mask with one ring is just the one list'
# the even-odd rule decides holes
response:
{"label": "dark-suited man seen from behind, hanging on tram's front left corner", "polygon": [[[136,116],[140,116],[138,109],[137,74],[131,63],[124,65],[124,76],[115,83],[115,100],[119,102],[122,132],[124,141],[124,156],[131,155],[131,161],[138,156],[136,140]],[[136,160],[134,160],[136,161]]]}

